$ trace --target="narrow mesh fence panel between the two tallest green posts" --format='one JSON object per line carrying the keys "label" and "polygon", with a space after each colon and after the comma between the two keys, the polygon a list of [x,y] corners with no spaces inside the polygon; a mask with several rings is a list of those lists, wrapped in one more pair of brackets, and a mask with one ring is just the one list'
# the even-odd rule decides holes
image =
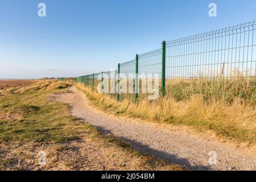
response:
{"label": "narrow mesh fence panel between the two tallest green posts", "polygon": [[159,92],[162,75],[162,49],[139,55],[138,68],[139,98],[146,98],[148,94]]}

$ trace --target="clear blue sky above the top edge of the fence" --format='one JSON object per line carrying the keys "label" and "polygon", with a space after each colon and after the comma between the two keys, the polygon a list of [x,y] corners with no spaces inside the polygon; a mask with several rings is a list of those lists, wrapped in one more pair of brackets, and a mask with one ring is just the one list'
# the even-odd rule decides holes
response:
{"label": "clear blue sky above the top edge of the fence", "polygon": [[[47,17],[38,16],[46,3]],[[208,16],[210,2],[217,18]],[[255,0],[0,0],[0,78],[77,77],[256,19]]]}

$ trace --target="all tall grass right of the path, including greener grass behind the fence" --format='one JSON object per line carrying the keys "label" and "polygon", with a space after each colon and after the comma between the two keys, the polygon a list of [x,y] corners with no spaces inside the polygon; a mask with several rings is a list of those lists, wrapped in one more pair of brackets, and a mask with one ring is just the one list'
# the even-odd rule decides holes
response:
{"label": "all tall grass right of the path, including greener grass behind the fence", "polygon": [[118,115],[192,126],[201,131],[210,130],[224,137],[256,143],[255,79],[239,79],[209,81],[191,78],[172,85],[166,97],[155,101],[139,98],[138,103],[127,98],[117,102],[84,85],[76,86],[94,104]]}

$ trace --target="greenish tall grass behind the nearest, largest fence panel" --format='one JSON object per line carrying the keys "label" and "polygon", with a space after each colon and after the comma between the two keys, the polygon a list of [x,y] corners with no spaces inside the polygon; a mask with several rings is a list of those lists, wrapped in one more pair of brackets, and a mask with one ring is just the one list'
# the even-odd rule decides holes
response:
{"label": "greenish tall grass behind the nearest, largest fence panel", "polygon": [[167,94],[177,101],[190,100],[199,94],[204,101],[220,100],[230,104],[239,100],[246,104],[256,104],[256,77],[219,77],[212,80],[201,77],[170,82]]}

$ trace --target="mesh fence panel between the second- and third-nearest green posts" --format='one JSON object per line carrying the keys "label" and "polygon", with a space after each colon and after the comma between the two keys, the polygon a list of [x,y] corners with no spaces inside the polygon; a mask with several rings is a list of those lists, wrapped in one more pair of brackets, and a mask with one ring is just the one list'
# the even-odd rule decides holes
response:
{"label": "mesh fence panel between the second- and third-nearest green posts", "polygon": [[120,100],[135,99],[135,61],[131,60],[120,64]]}

